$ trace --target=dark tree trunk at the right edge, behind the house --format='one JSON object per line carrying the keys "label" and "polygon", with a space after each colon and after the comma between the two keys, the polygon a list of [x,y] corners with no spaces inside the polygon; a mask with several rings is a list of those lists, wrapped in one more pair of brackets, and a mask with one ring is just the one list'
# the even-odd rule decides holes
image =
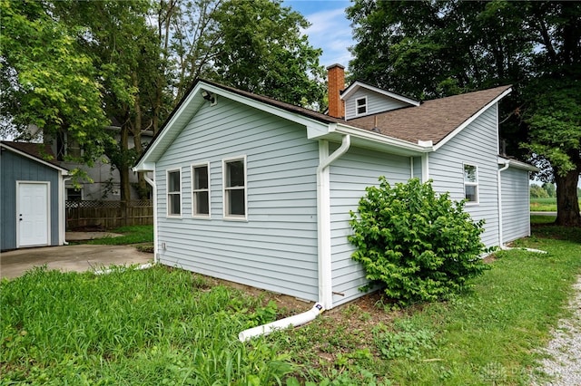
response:
{"label": "dark tree trunk at the right edge, behind the house", "polygon": [[559,176],[555,173],[556,182],[556,221],[563,227],[581,227],[579,201],[577,199],[577,183],[580,169],[574,169]]}

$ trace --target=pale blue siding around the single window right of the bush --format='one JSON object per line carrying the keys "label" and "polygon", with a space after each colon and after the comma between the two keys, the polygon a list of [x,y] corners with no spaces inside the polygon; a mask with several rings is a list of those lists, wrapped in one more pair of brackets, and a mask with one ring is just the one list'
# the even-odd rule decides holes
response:
{"label": "pale blue siding around the single window right of the bush", "polygon": [[478,221],[486,219],[482,241],[498,245],[497,189],[497,106],[484,111],[438,151],[429,154],[429,178],[439,193],[449,192],[452,200],[464,199],[463,164],[478,167],[478,204],[465,210]]}

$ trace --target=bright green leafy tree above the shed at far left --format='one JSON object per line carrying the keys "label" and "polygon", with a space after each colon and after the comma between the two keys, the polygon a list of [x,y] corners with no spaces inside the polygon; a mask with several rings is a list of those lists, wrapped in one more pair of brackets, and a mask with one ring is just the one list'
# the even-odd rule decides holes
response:
{"label": "bright green leafy tree above the shed at far left", "polygon": [[54,19],[48,3],[0,4],[2,129],[22,135],[34,125],[44,139],[55,139],[64,129],[84,150],[68,159],[93,164],[111,138],[103,132],[103,83],[93,59],[74,39],[76,27]]}

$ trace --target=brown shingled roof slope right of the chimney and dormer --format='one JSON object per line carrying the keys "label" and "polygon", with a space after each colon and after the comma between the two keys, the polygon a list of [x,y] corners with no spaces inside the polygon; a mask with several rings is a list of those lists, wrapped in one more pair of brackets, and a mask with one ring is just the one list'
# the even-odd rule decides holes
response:
{"label": "brown shingled roof slope right of the chimney and dormer", "polygon": [[[496,100],[511,86],[480,92],[468,92],[447,98],[424,101],[417,107],[386,111],[347,121],[347,124],[399,140],[418,143],[431,140],[437,144],[468,121],[488,103]],[[377,127],[377,130],[374,128]]]}

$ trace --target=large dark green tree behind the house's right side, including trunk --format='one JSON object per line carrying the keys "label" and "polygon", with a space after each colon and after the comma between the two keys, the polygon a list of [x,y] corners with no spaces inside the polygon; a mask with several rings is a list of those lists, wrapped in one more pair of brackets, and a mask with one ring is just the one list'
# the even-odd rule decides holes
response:
{"label": "large dark green tree behind the house's right side, including trunk", "polygon": [[348,17],[357,79],[421,99],[514,84],[501,105],[507,150],[549,166],[556,223],[581,226],[580,3],[356,0]]}

